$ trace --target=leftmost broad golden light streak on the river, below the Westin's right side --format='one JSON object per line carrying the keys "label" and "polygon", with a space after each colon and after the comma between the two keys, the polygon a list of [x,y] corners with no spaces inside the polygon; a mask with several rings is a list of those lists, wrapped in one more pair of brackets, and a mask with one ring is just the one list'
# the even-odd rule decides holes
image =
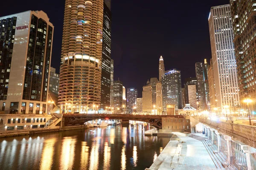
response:
{"label": "leftmost broad golden light streak on the river, below the Westin's right side", "polygon": [[40,170],[49,170],[52,167],[52,156],[54,153],[54,144],[56,139],[45,140],[44,149],[41,157]]}

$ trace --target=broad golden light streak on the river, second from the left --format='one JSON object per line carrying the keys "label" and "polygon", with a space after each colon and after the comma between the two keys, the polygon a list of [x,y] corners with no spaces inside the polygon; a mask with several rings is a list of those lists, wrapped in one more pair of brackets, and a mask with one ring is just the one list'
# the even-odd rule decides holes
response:
{"label": "broad golden light streak on the river, second from the left", "polygon": [[76,145],[76,136],[74,137],[64,137],[62,140],[61,162],[60,162],[61,170],[72,169],[73,167],[74,156],[75,156],[74,152],[75,152],[75,145]]}

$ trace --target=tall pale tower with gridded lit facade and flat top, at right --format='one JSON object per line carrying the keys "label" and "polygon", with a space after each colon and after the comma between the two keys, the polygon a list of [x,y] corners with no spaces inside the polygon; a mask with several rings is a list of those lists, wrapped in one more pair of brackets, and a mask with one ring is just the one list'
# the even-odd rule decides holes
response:
{"label": "tall pale tower with gridded lit facade and flat top, at right", "polygon": [[218,108],[223,108],[225,105],[230,107],[240,105],[230,5],[211,8],[209,33],[216,105]]}

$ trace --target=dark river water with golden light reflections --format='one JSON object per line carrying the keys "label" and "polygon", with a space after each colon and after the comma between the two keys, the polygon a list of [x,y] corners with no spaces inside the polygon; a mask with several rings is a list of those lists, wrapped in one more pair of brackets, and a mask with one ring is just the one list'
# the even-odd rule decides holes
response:
{"label": "dark river water with golden light reflections", "polygon": [[144,170],[170,139],[144,136],[148,127],[119,125],[0,138],[0,170]]}

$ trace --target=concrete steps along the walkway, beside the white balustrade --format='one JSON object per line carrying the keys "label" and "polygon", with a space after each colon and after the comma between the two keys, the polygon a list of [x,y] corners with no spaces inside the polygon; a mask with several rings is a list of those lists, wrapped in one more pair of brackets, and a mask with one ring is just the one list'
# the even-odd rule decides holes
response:
{"label": "concrete steps along the walkway, beside the white balustrade", "polygon": [[230,164],[227,161],[227,157],[223,153],[219,152],[218,147],[212,144],[212,142],[209,141],[207,138],[193,134],[188,134],[187,136],[203,142],[204,147],[206,148],[207,152],[209,153],[209,156],[211,156],[212,161],[214,162],[215,166],[218,169],[230,166]]}

